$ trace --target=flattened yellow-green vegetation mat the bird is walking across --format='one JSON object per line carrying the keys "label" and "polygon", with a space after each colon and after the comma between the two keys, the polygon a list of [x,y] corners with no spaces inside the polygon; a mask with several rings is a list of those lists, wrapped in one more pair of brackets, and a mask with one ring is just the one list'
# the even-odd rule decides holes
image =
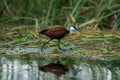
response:
{"label": "flattened yellow-green vegetation mat the bird is walking across", "polygon": [[[35,52],[35,50],[37,48],[40,49],[43,43],[48,40],[48,37],[38,35],[35,32],[34,27],[19,26],[12,29],[1,29],[0,51],[7,48],[1,53],[20,53],[20,55],[27,53],[37,53],[36,55],[41,55],[43,57],[120,56],[119,31],[84,30],[83,32],[84,33],[76,33],[61,40],[61,46],[71,51],[59,52],[56,49],[57,42],[51,41],[48,45],[45,46],[45,51],[52,47],[55,48],[53,48],[53,50],[51,49],[50,51],[45,52],[46,54],[43,55],[41,54],[40,50],[37,50],[37,52]],[[33,52],[29,52],[30,49],[28,48],[32,49]],[[10,49],[10,51],[8,51],[8,49]]]}

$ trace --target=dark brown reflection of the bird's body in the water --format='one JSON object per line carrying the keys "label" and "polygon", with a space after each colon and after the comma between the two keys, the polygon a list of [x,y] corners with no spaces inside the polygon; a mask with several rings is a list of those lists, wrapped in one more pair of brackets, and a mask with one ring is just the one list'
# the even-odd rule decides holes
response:
{"label": "dark brown reflection of the bird's body in the water", "polygon": [[48,65],[39,67],[39,69],[43,72],[50,72],[57,76],[61,76],[69,71],[68,67],[61,64],[59,61],[57,63],[50,63]]}

